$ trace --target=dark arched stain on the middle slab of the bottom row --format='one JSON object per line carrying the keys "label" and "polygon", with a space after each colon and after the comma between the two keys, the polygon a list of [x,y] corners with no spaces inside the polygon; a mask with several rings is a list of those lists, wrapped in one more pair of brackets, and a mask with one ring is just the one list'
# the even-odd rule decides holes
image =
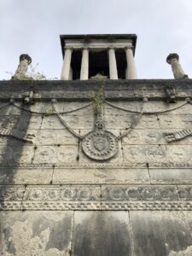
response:
{"label": "dark arched stain on the middle slab of the bottom row", "polygon": [[124,220],[121,222],[115,218],[114,214],[90,212],[89,218],[74,227],[73,255],[130,256],[131,237],[128,226]]}

